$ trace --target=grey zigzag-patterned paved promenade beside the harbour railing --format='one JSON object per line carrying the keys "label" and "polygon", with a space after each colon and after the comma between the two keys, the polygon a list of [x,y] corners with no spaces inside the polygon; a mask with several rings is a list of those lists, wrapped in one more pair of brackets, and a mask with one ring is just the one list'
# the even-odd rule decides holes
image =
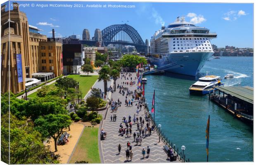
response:
{"label": "grey zigzag-patterned paved promenade beside the harbour railing", "polygon": [[[133,73],[133,80],[135,78],[135,73]],[[116,86],[119,84],[121,85],[121,82],[124,80],[118,79],[116,80]],[[127,81],[127,80],[126,80]],[[136,85],[130,86],[130,85],[124,85],[124,87],[128,87],[129,90],[135,90],[137,89],[137,79]],[[122,102],[121,107],[118,108],[117,112],[107,112],[107,117],[105,120],[103,120],[102,123],[102,129],[107,132],[107,138],[105,140],[102,140],[99,145],[101,145],[101,150],[103,160],[102,163],[126,163],[126,149],[127,149],[127,141],[129,141],[132,145],[132,151],[133,151],[133,160],[129,161],[128,163],[168,163],[170,162],[167,160],[167,154],[164,150],[164,143],[160,141],[159,143],[159,136],[158,134],[153,133],[150,136],[142,137],[142,145],[136,145],[135,141],[133,141],[133,133],[137,132],[137,125],[132,125],[132,135],[131,137],[126,138],[126,135],[119,135],[119,125],[120,123],[123,124],[125,127],[125,123],[122,122],[123,115],[126,116],[126,119],[128,120],[128,116],[130,115],[132,117],[131,120],[133,120],[133,115],[136,113],[137,106],[137,100],[134,100],[133,106],[127,107],[125,105],[125,99],[126,94],[123,96],[122,94],[119,94],[119,89],[116,88],[116,92],[113,92],[111,97],[113,98],[113,101],[117,101],[118,99]],[[132,99],[132,96],[128,96],[127,100]],[[111,115],[113,116],[116,114],[116,122],[111,122]],[[142,106],[142,110],[139,112],[139,115],[137,115],[138,118],[142,116],[142,119],[145,120],[145,114],[144,114],[144,108]],[[144,124],[144,127],[146,125],[146,121]],[[151,124],[151,123],[150,123]],[[143,127],[143,128],[144,128]],[[99,136],[100,137],[100,136]],[[120,155],[118,154],[118,144],[121,144],[122,149]],[[145,154],[145,158],[142,157],[142,148],[145,148],[147,151],[147,146],[150,148],[150,155],[149,158],[147,158],[147,153]],[[177,161],[179,162],[178,158]]]}

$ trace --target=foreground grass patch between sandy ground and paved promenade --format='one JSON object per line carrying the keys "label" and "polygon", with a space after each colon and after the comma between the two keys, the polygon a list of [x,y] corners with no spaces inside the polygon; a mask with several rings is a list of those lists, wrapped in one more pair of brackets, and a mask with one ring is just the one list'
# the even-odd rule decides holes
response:
{"label": "foreground grass patch between sandy ground and paved promenade", "polygon": [[74,150],[68,163],[75,163],[76,161],[82,160],[88,163],[100,163],[98,128],[85,127]]}

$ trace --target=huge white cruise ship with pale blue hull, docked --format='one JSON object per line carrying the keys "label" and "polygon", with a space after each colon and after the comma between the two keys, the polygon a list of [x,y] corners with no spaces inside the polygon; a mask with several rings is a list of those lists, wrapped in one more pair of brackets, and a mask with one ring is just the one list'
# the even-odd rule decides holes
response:
{"label": "huge white cruise ship with pale blue hull, docked", "polygon": [[174,23],[154,33],[148,59],[158,70],[196,76],[213,55],[210,40],[216,37],[209,29],[177,17]]}

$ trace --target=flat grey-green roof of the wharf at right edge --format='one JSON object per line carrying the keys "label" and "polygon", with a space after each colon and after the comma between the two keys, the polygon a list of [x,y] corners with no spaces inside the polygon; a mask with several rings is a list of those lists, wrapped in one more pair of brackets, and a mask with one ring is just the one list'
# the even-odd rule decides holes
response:
{"label": "flat grey-green roof of the wharf at right edge", "polygon": [[252,87],[215,87],[221,92],[230,94],[238,99],[254,104],[254,89]]}

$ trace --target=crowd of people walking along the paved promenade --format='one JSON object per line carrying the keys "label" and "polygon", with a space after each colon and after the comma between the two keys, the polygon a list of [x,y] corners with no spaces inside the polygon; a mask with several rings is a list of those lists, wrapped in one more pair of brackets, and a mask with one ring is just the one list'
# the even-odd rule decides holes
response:
{"label": "crowd of people walking along the paved promenade", "polygon": [[[145,113],[145,118],[142,118],[140,114],[140,111],[142,111],[142,107],[145,106],[144,101],[139,97],[139,92],[137,90],[131,90],[130,88],[135,85],[135,80],[133,80],[132,74],[128,72],[121,72],[120,75],[121,80],[121,85],[117,85],[117,89],[119,89],[119,94],[122,96],[125,96],[125,103],[123,106],[126,106],[127,108],[132,107],[132,106],[137,106],[136,111],[129,111],[133,115],[123,115],[122,122],[119,125],[118,132],[119,136],[123,138],[131,138],[133,137],[133,141],[130,141],[130,139],[127,140],[126,146],[127,148],[122,147],[122,145],[125,144],[119,144],[117,146],[118,148],[118,154],[121,153],[122,148],[124,149],[126,153],[126,161],[132,161],[133,159],[133,145],[134,147],[136,146],[141,146],[143,143],[143,139],[147,136],[150,136],[152,134],[152,131],[154,131],[154,125],[150,125],[149,123],[149,114]],[[136,79],[136,77],[134,78]],[[130,88],[128,87],[130,85]],[[118,107],[121,106],[121,101],[118,100],[113,100],[109,101],[109,105],[111,106],[111,112],[115,113],[118,111]],[[145,108],[145,107],[144,107]],[[115,122],[116,121],[116,114],[110,116],[110,121]],[[133,127],[137,127],[137,129],[132,129]],[[147,152],[147,157],[145,157],[145,154]],[[147,146],[147,148],[142,148],[142,158],[149,158],[149,153],[150,153],[150,148]],[[170,148],[168,150],[167,154],[168,158],[171,158],[173,156],[173,151]]]}

